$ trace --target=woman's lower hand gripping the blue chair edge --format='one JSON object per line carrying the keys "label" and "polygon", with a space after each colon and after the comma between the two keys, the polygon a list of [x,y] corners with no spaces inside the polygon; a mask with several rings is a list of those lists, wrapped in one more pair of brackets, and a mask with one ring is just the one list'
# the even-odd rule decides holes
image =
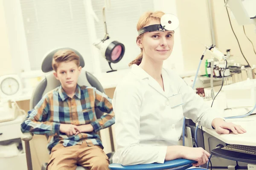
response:
{"label": "woman's lower hand gripping the blue chair edge", "polygon": [[197,161],[197,163],[193,164],[193,166],[197,167],[207,163],[210,154],[202,147],[183,147],[181,156],[183,159]]}

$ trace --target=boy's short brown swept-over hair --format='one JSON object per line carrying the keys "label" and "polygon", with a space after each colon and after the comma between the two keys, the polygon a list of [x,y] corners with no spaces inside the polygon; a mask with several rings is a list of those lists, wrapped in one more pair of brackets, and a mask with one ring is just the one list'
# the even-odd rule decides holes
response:
{"label": "boy's short brown swept-over hair", "polygon": [[52,57],[52,68],[57,71],[61,62],[75,61],[77,67],[80,65],[79,55],[72,50],[59,50]]}

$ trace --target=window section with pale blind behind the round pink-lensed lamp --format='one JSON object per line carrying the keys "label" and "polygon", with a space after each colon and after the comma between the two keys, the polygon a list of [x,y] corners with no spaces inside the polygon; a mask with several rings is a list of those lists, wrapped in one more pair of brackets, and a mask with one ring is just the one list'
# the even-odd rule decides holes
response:
{"label": "window section with pale blind behind the round pink-lensed lamp", "polygon": [[[106,8],[106,23],[111,40],[116,40],[125,45],[124,57],[116,64],[111,64],[113,69],[128,68],[129,62],[140,54],[140,48],[136,44],[137,22],[141,14],[154,10],[154,0],[111,0],[111,7]],[[93,11],[99,18],[95,22],[97,38],[102,40],[105,35],[102,18],[102,8],[105,0],[92,0]],[[108,62],[100,56],[102,72],[109,71]]]}

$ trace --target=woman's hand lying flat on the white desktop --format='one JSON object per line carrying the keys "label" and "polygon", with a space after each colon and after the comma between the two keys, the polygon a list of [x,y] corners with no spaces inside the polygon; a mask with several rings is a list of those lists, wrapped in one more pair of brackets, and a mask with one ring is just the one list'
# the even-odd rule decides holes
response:
{"label": "woman's hand lying flat on the white desktop", "polygon": [[240,125],[233,124],[232,122],[225,122],[221,118],[215,118],[212,120],[212,127],[218,134],[229,134],[233,132],[234,134],[245,133],[246,130]]}

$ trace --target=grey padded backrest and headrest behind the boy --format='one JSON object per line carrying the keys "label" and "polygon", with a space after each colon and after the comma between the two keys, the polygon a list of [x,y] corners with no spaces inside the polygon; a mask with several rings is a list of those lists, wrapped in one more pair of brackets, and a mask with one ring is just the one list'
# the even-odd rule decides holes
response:
{"label": "grey padded backrest and headrest behind the boy", "polygon": [[[60,49],[70,49],[74,51],[80,57],[80,66],[84,67],[84,59],[78,51],[72,48],[58,48],[54,51],[51,51],[44,58],[44,61],[42,63],[43,72],[47,73],[52,71],[52,57],[55,54],[55,52],[57,52]],[[86,86],[95,87],[97,90],[104,93],[104,88],[102,87],[98,79],[96,79],[96,77],[94,77],[89,72],[85,71],[84,68],[81,69],[81,74],[78,78],[78,84],[80,86],[86,85]],[[44,94],[57,88],[60,85],[61,83],[59,82],[59,80],[55,79],[53,73],[49,73],[47,76],[45,76],[45,78],[36,86],[36,88],[33,91],[32,97],[30,99],[30,109],[34,108],[35,105],[37,105],[37,103],[42,99]],[[95,109],[95,112],[96,112],[97,119],[99,119],[103,115],[103,112],[100,111],[98,108]]]}

